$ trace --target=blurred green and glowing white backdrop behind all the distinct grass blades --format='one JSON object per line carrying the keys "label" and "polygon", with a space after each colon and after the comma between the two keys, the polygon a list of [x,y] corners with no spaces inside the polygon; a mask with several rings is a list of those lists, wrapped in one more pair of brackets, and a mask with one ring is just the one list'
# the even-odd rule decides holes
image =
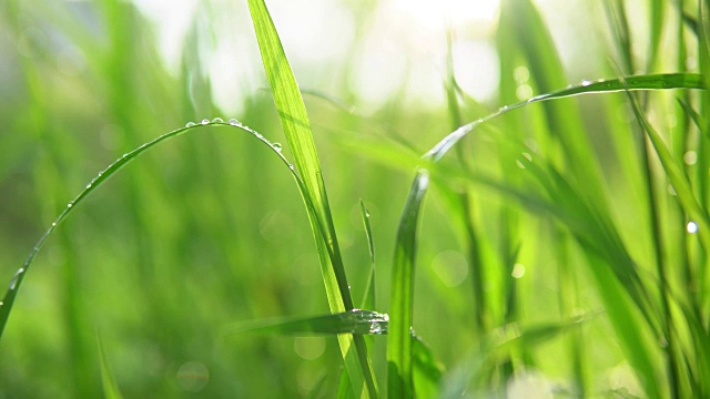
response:
{"label": "blurred green and glowing white backdrop behind all the distinct grass blades", "polygon": [[[687,44],[692,33],[678,12],[684,7],[693,16],[693,4],[661,1],[660,25],[655,1],[535,4],[555,48],[534,47],[531,38],[546,32],[527,19],[527,1],[267,3],[304,91],[355,298],[369,265],[359,198],[369,208],[376,310],[388,307],[413,154],[504,104],[582,79],[697,68]],[[631,62],[615,34],[615,4],[628,12]],[[220,116],[283,142],[243,1],[4,0],[0,53],[0,282],[10,282],[99,171],[160,134]],[[562,74],[552,80],[541,72],[558,66]],[[460,108],[447,103],[452,76]],[[692,167],[697,132],[678,116],[673,95],[687,94],[649,95],[649,117]],[[555,127],[554,113],[567,121]],[[637,212],[646,194],[629,115],[622,93],[531,105],[471,135],[458,158],[465,170],[524,187],[530,178],[516,164],[523,153],[582,185],[585,173],[594,176],[604,188],[590,197],[606,201],[646,277],[655,273],[652,228]],[[681,130],[690,139],[676,139]],[[585,157],[570,158],[567,145]],[[684,235],[686,221],[659,182],[666,256],[679,258],[686,250],[673,237]],[[456,205],[460,192],[468,193],[468,214]],[[466,217],[477,232],[476,259]],[[605,288],[579,266],[588,263],[549,215],[490,187],[435,181],[420,233],[414,327],[442,367],[455,368],[506,323],[601,310]],[[476,267],[485,303],[471,297]],[[334,337],[223,335],[233,323],[326,314],[318,270],[302,200],[274,154],[225,127],[168,141],[89,197],[38,256],[0,342],[0,398],[102,396],[98,338],[126,398],[331,397],[342,362]],[[581,376],[592,396],[618,388],[643,396],[606,317],[582,330],[582,345],[560,335],[528,348],[511,360],[519,378],[491,374],[489,388],[576,396],[570,381]],[[375,337],[381,381],[385,344]],[[579,347],[582,355],[570,349]]]}

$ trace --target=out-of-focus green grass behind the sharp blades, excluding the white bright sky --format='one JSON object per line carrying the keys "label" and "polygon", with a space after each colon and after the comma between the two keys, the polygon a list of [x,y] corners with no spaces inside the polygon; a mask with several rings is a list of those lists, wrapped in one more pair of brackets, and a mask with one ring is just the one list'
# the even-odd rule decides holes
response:
{"label": "out-of-focus green grass behind the sharp blades, excluding the white bright sky", "polygon": [[[369,297],[377,300],[369,310],[412,311],[430,348],[403,338],[407,318],[397,320],[398,338],[373,337],[381,391],[387,360],[410,351],[399,371],[427,396],[710,392],[707,91],[633,94],[633,109],[622,92],[530,104],[478,126],[438,165],[418,160],[452,125],[582,78],[704,76],[707,3],[641,6],[648,21],[625,1],[579,6],[598,30],[596,41],[578,42],[589,49],[581,71],[584,62],[560,55],[566,40],[556,35],[556,24],[576,18],[571,9],[545,7],[546,14],[527,0],[504,1],[493,42],[500,84],[490,103],[463,92],[457,79],[467,71],[453,68],[448,76],[442,70],[447,103],[413,104],[402,90],[362,116],[327,96],[305,96],[352,297],[365,296],[373,238],[377,291]],[[375,6],[348,7],[364,18]],[[195,18],[181,68],[169,73],[155,34],[128,3],[10,0],[0,8],[0,280],[10,282],[98,171],[162,133],[235,116],[284,142],[266,92],[250,93],[240,114],[212,100],[200,54],[233,31],[211,38]],[[459,29],[453,43],[466,40]],[[328,76],[345,89],[326,94],[367,108],[346,82],[355,64]],[[430,168],[432,193],[418,239],[399,242],[416,252],[407,264],[414,256],[394,255],[417,165]],[[403,237],[414,238],[412,227]],[[395,259],[412,272],[413,303],[389,303]],[[343,361],[336,338],[222,336],[233,323],[327,311],[288,171],[246,135],[200,127],[135,158],[58,227],[0,340],[0,396],[332,397]],[[398,346],[388,359],[387,346]],[[407,393],[407,378],[390,392]]]}

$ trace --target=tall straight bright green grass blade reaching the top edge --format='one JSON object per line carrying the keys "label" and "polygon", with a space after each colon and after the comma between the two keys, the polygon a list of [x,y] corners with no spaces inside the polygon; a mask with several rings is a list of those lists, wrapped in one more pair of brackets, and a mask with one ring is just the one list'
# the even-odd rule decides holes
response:
{"label": "tall straight bright green grass blade reaching the top edge", "polygon": [[[313,205],[307,206],[308,218],[321,256],[321,270],[331,311],[352,310],[353,299],[303,98],[266,4],[263,0],[248,0],[248,8],[278,117],[305,186],[302,195],[306,203]],[[356,396],[361,396],[362,391],[365,396],[377,397],[374,372],[363,337],[338,335],[338,342]]]}

